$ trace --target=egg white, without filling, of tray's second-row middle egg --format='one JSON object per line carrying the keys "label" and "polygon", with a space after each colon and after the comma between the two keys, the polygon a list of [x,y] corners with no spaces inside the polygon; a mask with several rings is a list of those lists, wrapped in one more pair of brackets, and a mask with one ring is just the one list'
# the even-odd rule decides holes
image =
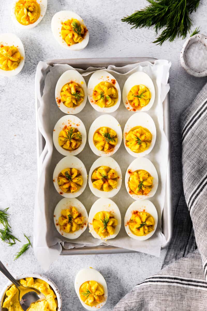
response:
{"label": "egg white, without filling, of tray's second-row middle egg", "polygon": [[[115,147],[108,152],[105,151],[100,151],[96,148],[96,146],[93,143],[93,136],[94,133],[101,127],[106,126],[107,128],[111,128],[114,130],[117,134],[118,142],[115,145]],[[96,118],[93,123],[90,126],[89,132],[88,132],[88,142],[91,150],[95,155],[97,156],[112,156],[120,147],[122,141],[122,130],[119,122],[112,117],[110,114],[103,114],[100,117]]]}

